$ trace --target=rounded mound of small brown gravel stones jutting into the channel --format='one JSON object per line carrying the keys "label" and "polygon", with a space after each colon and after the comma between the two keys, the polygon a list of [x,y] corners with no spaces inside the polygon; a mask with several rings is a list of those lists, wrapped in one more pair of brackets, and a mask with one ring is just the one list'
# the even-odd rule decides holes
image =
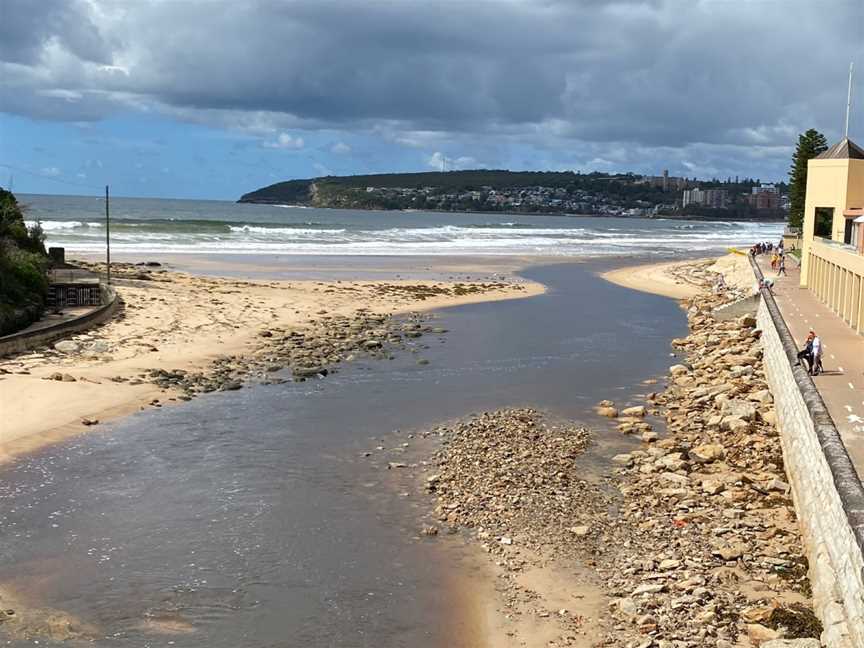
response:
{"label": "rounded mound of small brown gravel stones jutting into the channel", "polygon": [[602,533],[591,516],[596,498],[587,495],[597,487],[576,462],[589,441],[586,429],[520,408],[486,412],[439,434],[443,447],[427,489],[441,523],[534,550]]}

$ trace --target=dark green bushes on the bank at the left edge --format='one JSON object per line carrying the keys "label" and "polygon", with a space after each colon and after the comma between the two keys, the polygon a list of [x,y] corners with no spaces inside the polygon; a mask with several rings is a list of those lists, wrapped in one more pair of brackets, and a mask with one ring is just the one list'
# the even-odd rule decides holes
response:
{"label": "dark green bushes on the bank at the left edge", "polygon": [[45,235],[27,227],[14,194],[0,188],[0,335],[35,321],[48,291]]}

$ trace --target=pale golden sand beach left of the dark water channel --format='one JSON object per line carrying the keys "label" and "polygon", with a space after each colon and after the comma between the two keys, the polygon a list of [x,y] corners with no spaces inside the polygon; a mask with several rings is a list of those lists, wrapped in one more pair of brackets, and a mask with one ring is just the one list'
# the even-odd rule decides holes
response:
{"label": "pale golden sand beach left of the dark water channel", "polygon": [[[105,422],[176,400],[142,379],[153,369],[207,371],[226,355],[254,354],[271,327],[302,330],[325,313],[361,309],[401,314],[525,297],[536,283],[484,277],[465,282],[247,281],[120,266],[114,276],[125,303],[102,327],[71,338],[80,348],[53,348],[0,359],[0,461]],[[461,287],[457,284],[461,283]],[[53,377],[53,379],[52,379]]]}

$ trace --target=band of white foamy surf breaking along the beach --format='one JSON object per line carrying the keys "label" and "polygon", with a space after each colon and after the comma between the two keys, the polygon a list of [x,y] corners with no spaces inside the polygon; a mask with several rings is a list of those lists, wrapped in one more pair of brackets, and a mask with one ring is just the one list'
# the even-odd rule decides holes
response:
{"label": "band of white foamy surf breaking along the beach", "polygon": [[[369,218],[345,215],[333,223],[328,223],[330,213],[322,215],[320,223],[120,219],[112,227],[111,245],[118,252],[141,254],[668,255],[749,246],[757,240],[774,240],[782,230],[780,224],[765,223],[563,217],[436,224],[436,217],[430,214],[431,224],[426,227],[418,226],[416,217],[405,222],[399,215],[384,219],[380,214]],[[352,220],[345,220],[349,218]],[[405,226],[400,227],[400,222]],[[46,220],[42,226],[49,245],[62,245],[73,252],[97,252],[104,244],[100,222]]]}

